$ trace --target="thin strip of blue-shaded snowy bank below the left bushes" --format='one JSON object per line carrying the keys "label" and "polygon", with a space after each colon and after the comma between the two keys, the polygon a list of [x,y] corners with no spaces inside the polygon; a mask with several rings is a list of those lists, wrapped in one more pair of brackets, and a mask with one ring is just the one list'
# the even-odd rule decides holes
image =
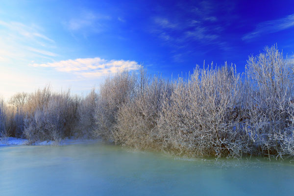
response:
{"label": "thin strip of blue-shaded snowy bank below the left bushes", "polygon": [[[93,140],[93,139],[73,139],[73,138],[65,138],[61,140],[59,143],[56,143],[54,141],[44,141],[44,142],[36,142],[34,145],[38,146],[45,146],[45,145],[71,145],[71,144],[83,144],[83,143],[94,143],[99,140]],[[22,139],[22,138],[14,138],[9,137],[6,141],[3,140],[3,138],[0,138],[0,146],[10,146],[10,145],[27,145],[28,140]]]}

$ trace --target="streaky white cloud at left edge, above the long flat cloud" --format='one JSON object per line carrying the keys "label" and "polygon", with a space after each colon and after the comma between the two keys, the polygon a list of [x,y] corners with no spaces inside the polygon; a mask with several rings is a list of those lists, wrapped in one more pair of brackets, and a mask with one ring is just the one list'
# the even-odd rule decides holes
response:
{"label": "streaky white cloud at left edge, above the long flat cloud", "polygon": [[50,39],[38,25],[26,25],[19,22],[5,22],[0,20],[0,59],[20,60],[33,57],[48,58],[57,56],[50,50],[55,47],[54,40]]}

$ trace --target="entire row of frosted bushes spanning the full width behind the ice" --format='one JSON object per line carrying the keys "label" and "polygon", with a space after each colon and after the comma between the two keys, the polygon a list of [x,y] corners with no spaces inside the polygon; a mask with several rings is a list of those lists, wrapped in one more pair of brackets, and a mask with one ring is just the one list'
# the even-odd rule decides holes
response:
{"label": "entire row of frosted bushes spanning the full width behind the ice", "polygon": [[174,81],[121,71],[85,98],[46,87],[0,101],[0,131],[31,143],[95,136],[176,155],[293,157],[293,76],[275,46],[242,75],[226,64]]}

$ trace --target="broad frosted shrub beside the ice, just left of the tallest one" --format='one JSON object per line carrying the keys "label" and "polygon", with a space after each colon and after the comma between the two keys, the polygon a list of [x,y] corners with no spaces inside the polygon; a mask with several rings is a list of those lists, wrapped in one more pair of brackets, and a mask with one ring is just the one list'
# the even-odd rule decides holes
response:
{"label": "broad frosted shrub beside the ice, just left of the tallest one", "polygon": [[240,83],[240,75],[227,65],[196,67],[187,82],[178,78],[160,114],[162,149],[189,156],[247,152],[243,143],[235,146],[244,137]]}

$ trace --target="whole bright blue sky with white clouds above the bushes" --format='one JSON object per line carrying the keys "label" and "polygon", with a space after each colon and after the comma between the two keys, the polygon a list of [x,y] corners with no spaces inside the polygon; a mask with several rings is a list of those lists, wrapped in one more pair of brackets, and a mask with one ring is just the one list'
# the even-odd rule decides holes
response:
{"label": "whole bright blue sky with white clouds above the bushes", "polygon": [[293,58],[293,0],[1,0],[0,95],[48,83],[80,94],[140,64],[166,77],[204,60],[243,72],[275,43]]}

